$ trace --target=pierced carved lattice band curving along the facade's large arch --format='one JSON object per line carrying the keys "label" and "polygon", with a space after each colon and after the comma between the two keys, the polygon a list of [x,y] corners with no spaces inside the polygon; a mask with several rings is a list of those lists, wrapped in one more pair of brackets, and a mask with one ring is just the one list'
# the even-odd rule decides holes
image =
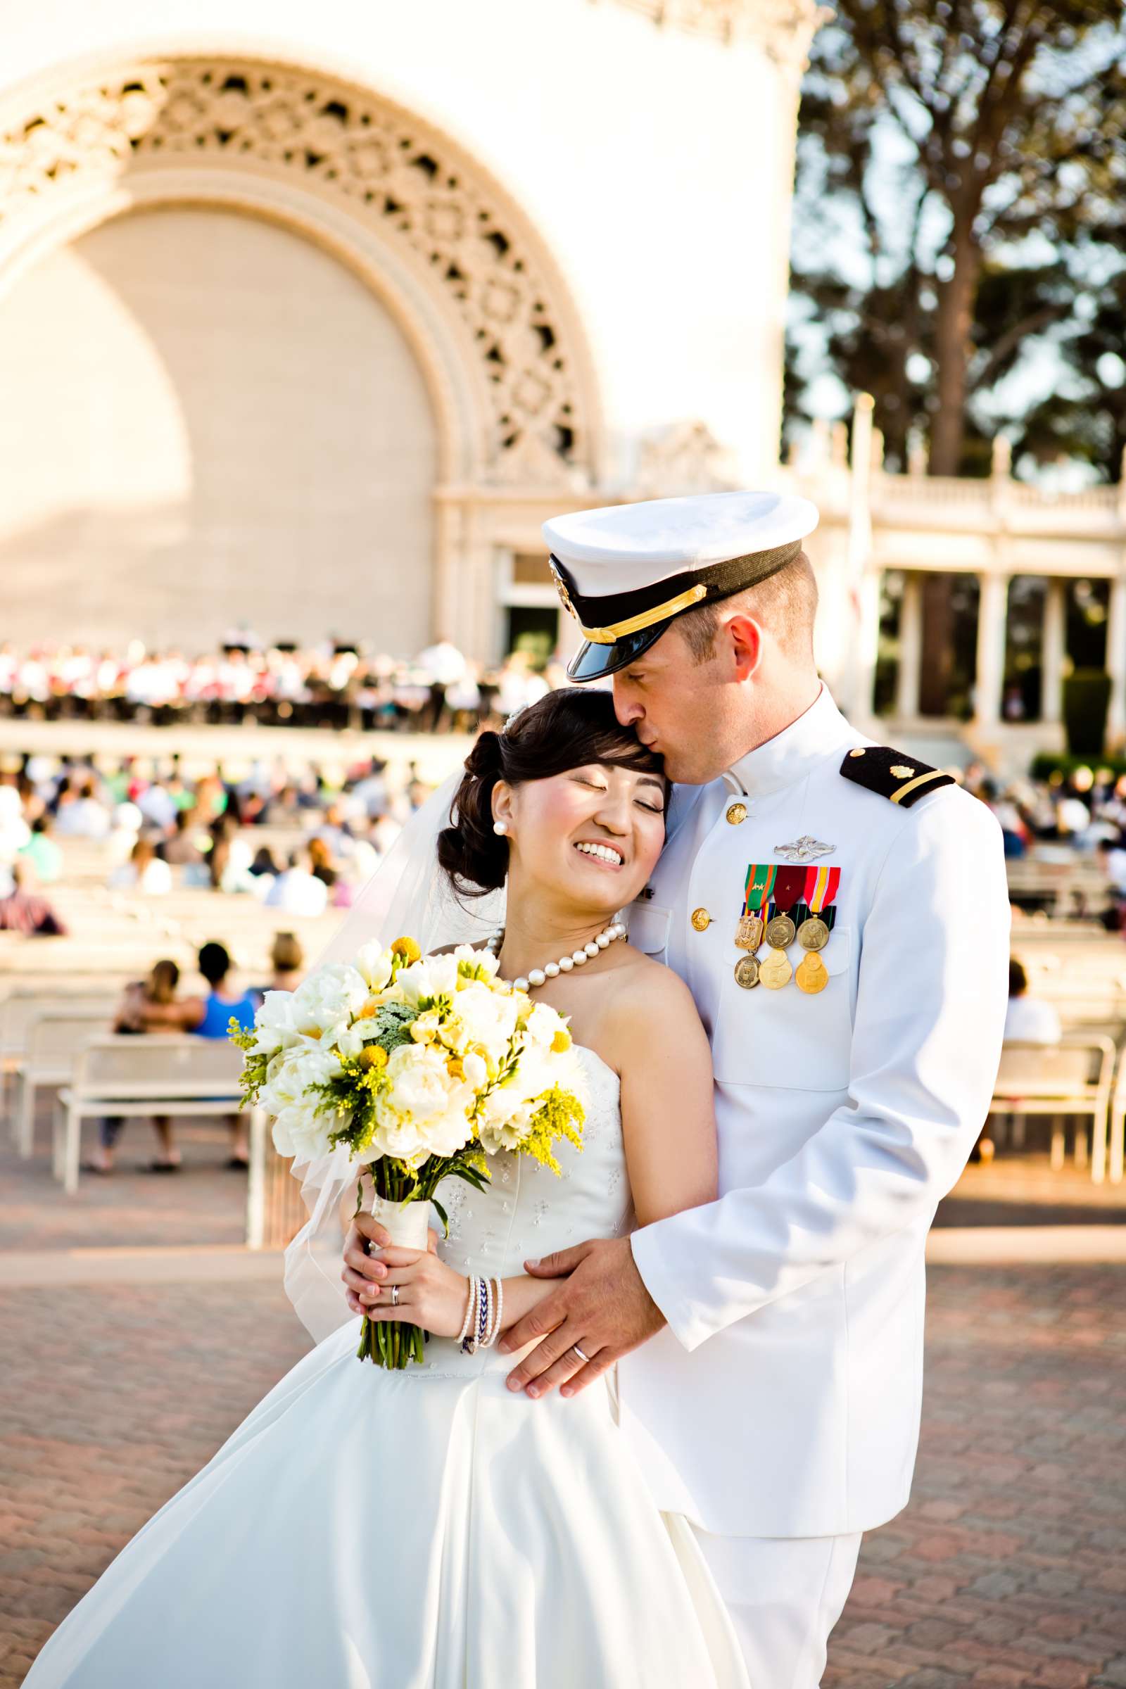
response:
{"label": "pierced carved lattice band curving along the facade's large arch", "polygon": [[56,196],[201,164],[295,176],[422,260],[485,377],[488,480],[591,478],[582,353],[518,213],[439,130],[321,71],[162,56],[54,95],[0,135],[0,262]]}

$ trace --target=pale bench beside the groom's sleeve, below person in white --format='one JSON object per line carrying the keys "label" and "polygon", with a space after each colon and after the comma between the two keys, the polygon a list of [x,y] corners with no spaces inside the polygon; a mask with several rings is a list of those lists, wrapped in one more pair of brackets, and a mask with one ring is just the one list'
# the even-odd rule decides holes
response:
{"label": "pale bench beside the groom's sleeve, below person in white", "polygon": [[[1064,1165],[1065,1137],[1062,1120],[1069,1115],[1091,1118],[1091,1174],[1102,1179],[1106,1169],[1107,1116],[1114,1074],[1114,1042],[1096,1032],[1070,1034],[1060,1044],[1006,1044],[993,1086],[991,1115],[1023,1118],[1053,1116],[1052,1167]],[[1085,1165],[1087,1137],[1075,1133],[1075,1165]]]}

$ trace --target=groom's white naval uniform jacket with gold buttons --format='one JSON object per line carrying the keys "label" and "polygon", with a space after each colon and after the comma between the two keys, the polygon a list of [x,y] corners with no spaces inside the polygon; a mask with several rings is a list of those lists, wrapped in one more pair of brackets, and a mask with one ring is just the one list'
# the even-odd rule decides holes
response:
{"label": "groom's white naval uniform jacket with gold buttons", "polygon": [[[869,743],[822,691],[721,780],[679,789],[630,912],[631,942],[685,980],[711,1037],[719,1199],[633,1235],[669,1328],[620,1363],[621,1422],[658,1505],[719,1535],[868,1530],[907,1503],[923,1245],[998,1069],[1001,831],[952,785],[903,809],[846,780],[846,752]],[[748,865],[804,834],[841,868],[829,983],[741,990]]]}

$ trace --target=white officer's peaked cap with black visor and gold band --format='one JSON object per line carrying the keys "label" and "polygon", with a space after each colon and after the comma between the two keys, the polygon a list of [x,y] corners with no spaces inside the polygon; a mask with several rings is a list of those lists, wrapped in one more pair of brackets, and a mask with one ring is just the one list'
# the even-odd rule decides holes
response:
{"label": "white officer's peaked cap with black visor and gold band", "polygon": [[582,630],[567,665],[594,681],[636,662],[670,622],[783,569],[817,527],[787,493],[701,493],[577,510],[544,524],[564,608]]}

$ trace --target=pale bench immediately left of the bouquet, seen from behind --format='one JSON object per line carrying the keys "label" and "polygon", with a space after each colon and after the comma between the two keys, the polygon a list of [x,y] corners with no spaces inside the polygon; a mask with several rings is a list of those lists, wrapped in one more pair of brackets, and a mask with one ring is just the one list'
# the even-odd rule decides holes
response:
{"label": "pale bench immediately left of the bouquet, seen from behind", "polygon": [[[54,1176],[78,1191],[83,1120],[105,1115],[238,1115],[243,1052],[226,1039],[103,1037],[74,1061],[54,1113]],[[257,1110],[252,1110],[252,1128]]]}

